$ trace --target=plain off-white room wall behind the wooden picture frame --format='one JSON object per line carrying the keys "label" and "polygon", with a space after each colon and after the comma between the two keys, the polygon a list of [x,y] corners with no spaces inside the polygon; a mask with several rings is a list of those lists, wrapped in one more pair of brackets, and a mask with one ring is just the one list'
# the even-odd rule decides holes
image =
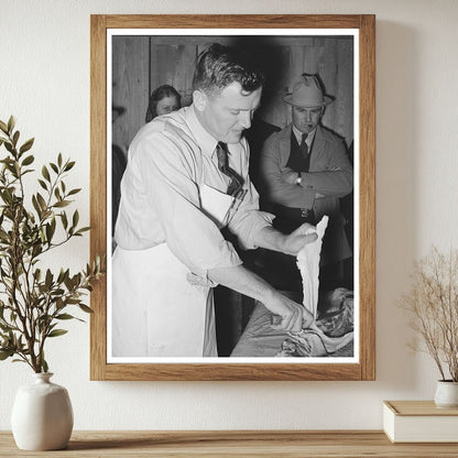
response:
{"label": "plain off-white room wall behind the wooden picture frame", "polygon": [[[89,382],[89,328],[52,342],[55,381],[72,396],[76,429],[380,428],[381,401],[432,399],[436,370],[412,353],[395,306],[412,261],[432,242],[458,244],[458,2],[455,0],[0,0],[0,119],[36,137],[37,162],[62,151],[89,205],[90,13],[377,14],[377,381]],[[70,183],[69,183],[70,184]],[[77,269],[88,238],[51,262]],[[8,429],[21,364],[0,363],[0,429]]]}

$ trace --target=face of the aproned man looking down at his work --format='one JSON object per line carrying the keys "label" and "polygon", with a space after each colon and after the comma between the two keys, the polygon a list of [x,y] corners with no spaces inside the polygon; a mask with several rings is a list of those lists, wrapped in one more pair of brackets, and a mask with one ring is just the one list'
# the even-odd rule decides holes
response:
{"label": "face of the aproned man looking down at his work", "polygon": [[204,128],[218,141],[238,143],[249,129],[261,101],[262,88],[246,92],[239,83],[231,83],[220,94],[194,95],[197,116]]}

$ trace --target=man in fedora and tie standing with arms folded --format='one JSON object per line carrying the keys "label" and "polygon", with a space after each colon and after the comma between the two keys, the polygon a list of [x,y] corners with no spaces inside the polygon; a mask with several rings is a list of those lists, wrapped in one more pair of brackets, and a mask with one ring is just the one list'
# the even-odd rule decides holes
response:
{"label": "man in fedora and tie standing with arms folded", "polygon": [[[292,107],[293,122],[273,133],[263,145],[261,197],[265,209],[276,216],[274,227],[284,233],[304,222],[315,225],[324,215],[329,217],[323,241],[320,283],[336,287],[342,283],[341,261],[352,255],[339,198],[351,193],[353,170],[344,141],[320,124],[325,107],[332,98],[324,95],[317,75],[303,74],[283,100]],[[280,255],[270,262],[301,287],[293,257]]]}

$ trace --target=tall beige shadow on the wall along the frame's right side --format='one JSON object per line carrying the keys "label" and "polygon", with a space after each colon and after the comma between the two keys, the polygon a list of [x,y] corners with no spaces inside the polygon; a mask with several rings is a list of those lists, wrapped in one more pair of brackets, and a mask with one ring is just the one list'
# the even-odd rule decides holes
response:
{"label": "tall beige shadow on the wall along the frame's right side", "polygon": [[421,379],[406,347],[408,319],[396,305],[408,291],[421,211],[418,54],[414,29],[377,22],[377,380],[397,395]]}

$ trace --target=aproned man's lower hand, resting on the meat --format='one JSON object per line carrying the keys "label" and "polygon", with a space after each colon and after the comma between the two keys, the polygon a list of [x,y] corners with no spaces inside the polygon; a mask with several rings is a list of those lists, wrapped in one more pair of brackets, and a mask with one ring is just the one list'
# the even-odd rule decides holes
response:
{"label": "aproned man's lower hand, resting on the meat", "polygon": [[303,305],[291,301],[286,296],[277,293],[272,302],[264,303],[265,307],[272,312],[272,328],[284,329],[291,332],[299,332],[303,328],[308,328],[314,318]]}

